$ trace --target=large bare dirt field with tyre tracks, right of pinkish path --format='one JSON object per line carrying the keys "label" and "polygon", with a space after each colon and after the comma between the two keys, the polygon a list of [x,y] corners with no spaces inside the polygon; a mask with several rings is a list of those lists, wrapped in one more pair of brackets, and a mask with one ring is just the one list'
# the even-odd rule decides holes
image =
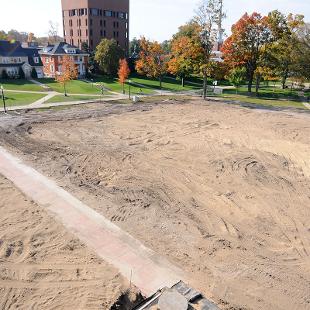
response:
{"label": "large bare dirt field with tyre tracks, right of pinkish path", "polygon": [[223,309],[310,309],[310,114],[170,103],[30,112],[0,139]]}

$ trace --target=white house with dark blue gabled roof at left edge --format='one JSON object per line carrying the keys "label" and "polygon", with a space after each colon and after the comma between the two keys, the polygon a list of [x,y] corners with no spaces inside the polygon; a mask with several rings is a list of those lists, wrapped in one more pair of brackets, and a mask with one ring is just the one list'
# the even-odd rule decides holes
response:
{"label": "white house with dark blue gabled roof at left edge", "polygon": [[0,40],[0,77],[3,71],[11,78],[18,78],[20,69],[30,78],[33,69],[38,78],[43,77],[43,64],[37,48],[24,48],[18,41]]}

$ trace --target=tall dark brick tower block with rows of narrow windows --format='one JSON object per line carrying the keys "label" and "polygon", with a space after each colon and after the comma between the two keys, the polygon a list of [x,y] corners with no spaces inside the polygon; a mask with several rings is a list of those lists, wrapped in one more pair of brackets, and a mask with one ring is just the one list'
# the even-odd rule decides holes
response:
{"label": "tall dark brick tower block with rows of narrow windows", "polygon": [[115,39],[127,52],[129,0],[61,0],[65,41],[94,50],[101,39]]}

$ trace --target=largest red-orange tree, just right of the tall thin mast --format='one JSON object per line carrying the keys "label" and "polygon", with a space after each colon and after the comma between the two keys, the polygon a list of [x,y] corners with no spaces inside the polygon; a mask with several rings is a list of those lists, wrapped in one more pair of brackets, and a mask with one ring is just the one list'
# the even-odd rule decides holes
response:
{"label": "largest red-orange tree, just right of the tall thin mast", "polygon": [[246,68],[248,91],[251,92],[255,71],[266,46],[272,41],[268,18],[258,13],[246,13],[232,26],[231,31],[231,36],[222,47],[224,61],[230,68]]}

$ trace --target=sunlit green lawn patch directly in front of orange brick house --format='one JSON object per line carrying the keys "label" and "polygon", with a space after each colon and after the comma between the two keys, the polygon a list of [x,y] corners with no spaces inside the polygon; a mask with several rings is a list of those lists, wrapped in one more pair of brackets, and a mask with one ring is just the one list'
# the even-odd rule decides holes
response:
{"label": "sunlit green lawn patch directly in front of orange brick house", "polygon": [[[40,79],[40,82],[49,86],[54,91],[59,93],[64,92],[63,85],[56,82],[54,79]],[[100,94],[100,89],[94,84],[80,80],[68,82],[66,84],[66,89],[69,94]]]}

